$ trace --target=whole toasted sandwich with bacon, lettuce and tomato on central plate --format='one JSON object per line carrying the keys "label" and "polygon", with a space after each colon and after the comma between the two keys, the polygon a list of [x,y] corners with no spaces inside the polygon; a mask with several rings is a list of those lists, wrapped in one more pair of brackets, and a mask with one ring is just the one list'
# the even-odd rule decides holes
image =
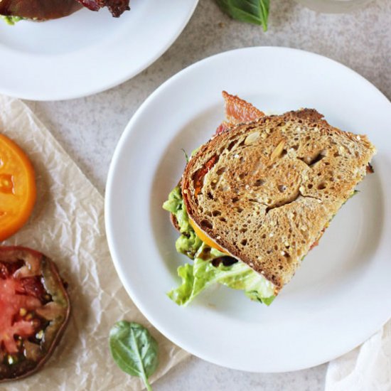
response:
{"label": "whole toasted sandwich with bacon, lettuce and tomato on central plate", "polygon": [[163,206],[181,233],[176,250],[193,261],[168,296],[186,306],[220,283],[269,305],[372,171],[375,147],[315,109],[267,116],[223,97],[225,122]]}

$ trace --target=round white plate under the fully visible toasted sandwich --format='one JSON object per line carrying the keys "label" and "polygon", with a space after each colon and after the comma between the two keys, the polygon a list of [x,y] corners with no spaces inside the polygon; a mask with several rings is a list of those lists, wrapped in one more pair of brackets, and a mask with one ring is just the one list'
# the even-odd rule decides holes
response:
{"label": "round white plate under the fully visible toasted sandwich", "polygon": [[[269,307],[216,286],[187,308],[178,286],[178,233],[161,204],[185,159],[223,119],[222,90],[266,112],[314,107],[336,127],[368,134],[375,173],[333,219],[320,245]],[[178,346],[239,370],[283,372],[325,363],[391,316],[391,105],[345,66],[288,48],[246,48],[191,65],[139,108],[109,171],[106,228],[115,267],[151,323]]]}

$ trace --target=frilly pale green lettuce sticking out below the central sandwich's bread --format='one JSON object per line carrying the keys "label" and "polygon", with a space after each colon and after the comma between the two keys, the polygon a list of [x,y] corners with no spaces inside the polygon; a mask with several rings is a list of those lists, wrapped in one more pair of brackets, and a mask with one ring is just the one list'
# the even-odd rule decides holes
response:
{"label": "frilly pale green lettuce sticking out below the central sandwich's bread", "polygon": [[208,247],[203,243],[194,259],[194,264],[184,264],[178,267],[178,276],[182,284],[177,289],[168,292],[168,297],[180,306],[187,306],[198,294],[209,286],[219,283],[232,289],[245,291],[251,300],[272,304],[274,300],[274,285],[247,266],[244,262],[236,262],[225,266],[220,262],[214,266],[213,259],[225,257],[223,252]]}

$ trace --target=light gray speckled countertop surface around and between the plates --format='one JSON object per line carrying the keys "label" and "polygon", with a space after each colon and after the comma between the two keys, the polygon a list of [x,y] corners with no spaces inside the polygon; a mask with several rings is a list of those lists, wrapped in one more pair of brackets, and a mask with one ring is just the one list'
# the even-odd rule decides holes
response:
{"label": "light gray speckled countertop surface around and between the plates", "polygon": [[[107,92],[64,102],[26,102],[103,194],[114,148],[141,103],[162,82],[215,53],[254,45],[289,46],[333,58],[391,97],[391,1],[360,11],[324,15],[293,0],[272,0],[269,31],[232,21],[214,0],[200,0],[188,26],[159,59]],[[259,352],[262,354],[262,352]],[[227,370],[189,358],[156,382],[154,390],[323,390],[327,365],[294,373]]]}

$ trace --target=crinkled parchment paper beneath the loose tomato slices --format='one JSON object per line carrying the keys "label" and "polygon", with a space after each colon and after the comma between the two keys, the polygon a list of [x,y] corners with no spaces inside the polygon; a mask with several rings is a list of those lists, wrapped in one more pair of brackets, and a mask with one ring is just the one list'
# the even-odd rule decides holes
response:
{"label": "crinkled parchment paper beneath the loose tomato slices", "polygon": [[14,139],[36,171],[33,215],[4,245],[23,245],[52,258],[69,286],[70,323],[52,358],[36,375],[0,390],[141,390],[109,353],[109,329],[118,320],[149,328],[160,365],[151,381],[188,355],[146,321],[119,282],[107,247],[102,195],[26,105],[0,95],[0,132]]}

